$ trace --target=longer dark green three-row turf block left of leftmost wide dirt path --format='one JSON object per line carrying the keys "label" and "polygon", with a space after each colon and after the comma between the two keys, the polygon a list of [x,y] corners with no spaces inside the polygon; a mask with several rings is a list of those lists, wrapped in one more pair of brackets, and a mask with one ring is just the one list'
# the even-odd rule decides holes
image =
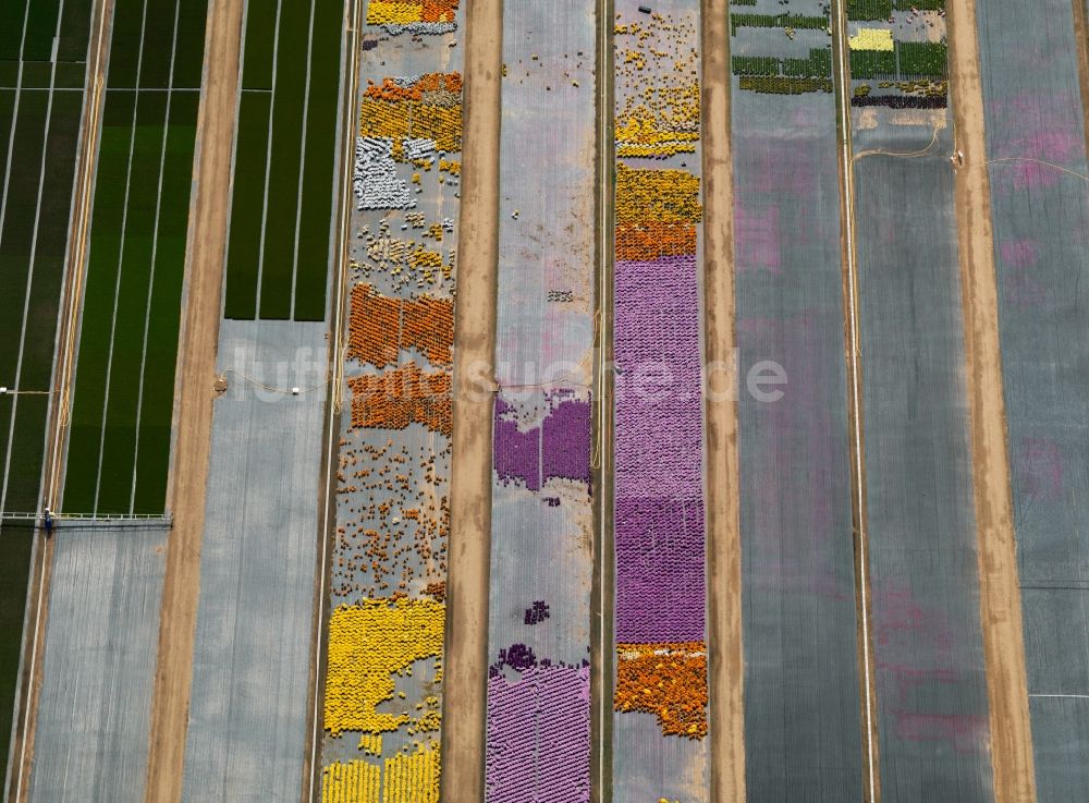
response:
{"label": "longer dark green three-row turf block left of leftmost wide dirt path", "polygon": [[[63,509],[162,513],[205,2],[119,0],[95,170]],[[175,25],[176,20],[176,25]]]}

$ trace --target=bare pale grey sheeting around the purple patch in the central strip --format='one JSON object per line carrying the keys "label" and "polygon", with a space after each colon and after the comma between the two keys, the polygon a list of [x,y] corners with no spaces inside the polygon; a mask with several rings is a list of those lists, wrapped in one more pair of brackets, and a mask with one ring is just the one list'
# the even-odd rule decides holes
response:
{"label": "bare pale grey sheeting around the purple patch in the central strip", "polygon": [[[595,52],[591,0],[504,3],[495,376],[501,386],[558,379],[554,389],[577,388],[584,400],[592,381]],[[572,300],[549,301],[549,291]],[[543,396],[511,390],[503,401],[528,421],[525,413],[548,409]],[[556,479],[535,492],[493,477],[489,659],[526,644],[538,658],[580,665],[590,644],[588,489]],[[526,624],[535,600],[549,619]]]}

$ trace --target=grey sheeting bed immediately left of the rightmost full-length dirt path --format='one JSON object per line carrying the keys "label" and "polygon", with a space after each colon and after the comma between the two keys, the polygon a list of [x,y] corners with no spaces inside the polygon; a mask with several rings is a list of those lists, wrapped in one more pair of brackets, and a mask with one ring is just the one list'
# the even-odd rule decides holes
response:
{"label": "grey sheeting bed immediately left of the rightmost full-length dirt path", "polygon": [[[951,127],[880,109],[855,165],[869,564],[884,803],[993,800]],[[902,115],[895,119],[903,120]],[[872,122],[872,120],[871,120]]]}

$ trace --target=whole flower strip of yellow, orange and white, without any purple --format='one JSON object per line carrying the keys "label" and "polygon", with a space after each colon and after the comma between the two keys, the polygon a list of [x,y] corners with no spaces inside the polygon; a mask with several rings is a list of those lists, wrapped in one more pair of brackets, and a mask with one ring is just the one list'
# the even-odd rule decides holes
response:
{"label": "whole flower strip of yellow, orange and white, without any purple", "polygon": [[438,802],[461,20],[369,3],[362,32],[323,803]]}

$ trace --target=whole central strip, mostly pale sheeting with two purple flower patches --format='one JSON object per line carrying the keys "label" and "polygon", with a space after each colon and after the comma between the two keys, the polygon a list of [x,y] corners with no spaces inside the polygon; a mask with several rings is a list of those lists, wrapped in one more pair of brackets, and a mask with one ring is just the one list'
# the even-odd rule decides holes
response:
{"label": "whole central strip, mostly pale sheeting with two purple flower patches", "polygon": [[588,0],[503,8],[492,803],[590,799],[596,22]]}

